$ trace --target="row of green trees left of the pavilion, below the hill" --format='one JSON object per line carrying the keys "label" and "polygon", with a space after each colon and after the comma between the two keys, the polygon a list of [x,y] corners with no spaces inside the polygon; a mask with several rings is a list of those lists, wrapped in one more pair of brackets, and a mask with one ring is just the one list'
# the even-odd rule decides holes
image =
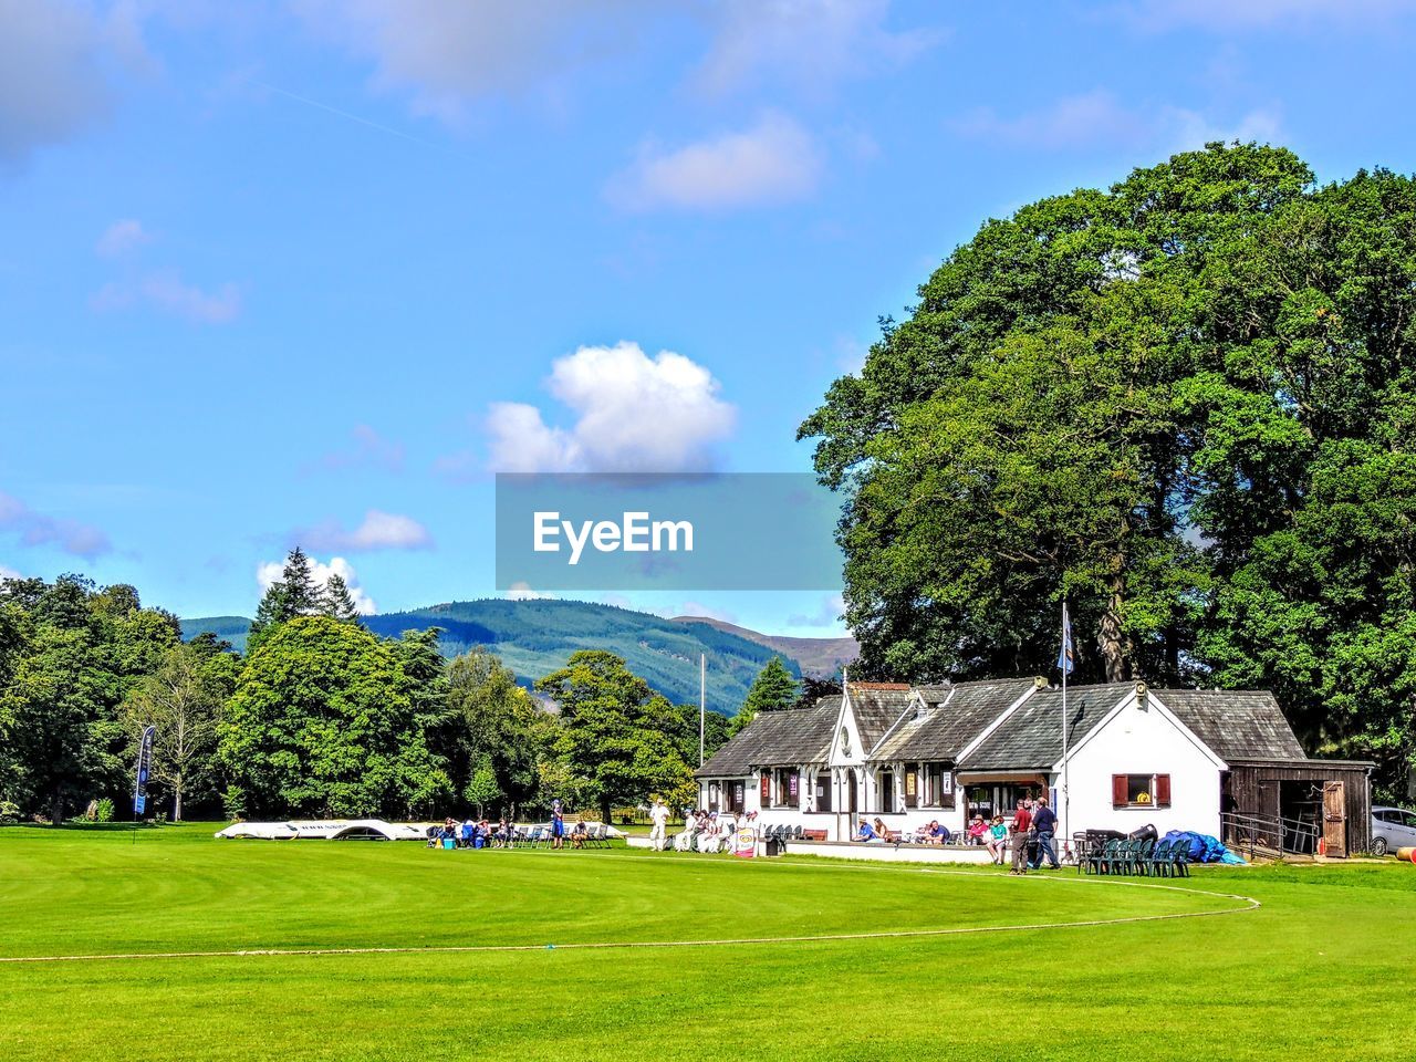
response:
{"label": "row of green trees left of the pavilion, below the hill", "polygon": [[[59,823],[96,797],[132,807],[156,726],[154,801],[173,818],[440,818],[691,804],[698,707],[599,650],[527,690],[491,651],[445,660],[436,629],[379,637],[337,576],[295,549],[246,651],[127,585],[0,583],[0,817]],[[709,712],[711,755],[728,721]],[[156,806],[156,804],[154,804]],[[166,814],[166,811],[164,811]]]}

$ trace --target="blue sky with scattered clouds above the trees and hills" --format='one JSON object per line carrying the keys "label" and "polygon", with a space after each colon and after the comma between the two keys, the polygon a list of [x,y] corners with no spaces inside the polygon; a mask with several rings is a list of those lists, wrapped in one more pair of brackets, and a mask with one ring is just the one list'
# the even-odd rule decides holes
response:
{"label": "blue sky with scattered clouds above the trees and hills", "polygon": [[500,596],[493,473],[809,472],[987,218],[1215,139],[1410,173],[1413,52],[1406,0],[0,0],[0,575]]}

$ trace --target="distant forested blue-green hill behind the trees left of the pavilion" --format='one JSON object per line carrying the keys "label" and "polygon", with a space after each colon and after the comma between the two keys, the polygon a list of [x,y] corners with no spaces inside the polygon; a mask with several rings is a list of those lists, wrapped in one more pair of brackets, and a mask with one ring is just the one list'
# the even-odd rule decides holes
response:
{"label": "distant forested blue-green hill behind the trees left of the pavilion", "polygon": [[[613,605],[487,599],[362,619],[370,630],[389,637],[405,630],[442,627],[439,644],[445,656],[486,646],[527,684],[564,667],[578,649],[605,649],[624,657],[634,674],[643,675],[654,690],[678,704],[698,702],[698,654],[704,653],[708,658],[708,707],[724,715],[738,711],[752,680],[773,656],[783,656],[796,674],[803,670],[817,673],[816,664],[803,668],[786,647],[789,643],[811,647],[817,639],[776,639],[782,643],[776,646],[765,634],[732,624],[719,626],[716,620],[664,619]],[[181,626],[183,637],[210,630],[245,650],[251,622],[241,616],[214,616],[184,619]]]}

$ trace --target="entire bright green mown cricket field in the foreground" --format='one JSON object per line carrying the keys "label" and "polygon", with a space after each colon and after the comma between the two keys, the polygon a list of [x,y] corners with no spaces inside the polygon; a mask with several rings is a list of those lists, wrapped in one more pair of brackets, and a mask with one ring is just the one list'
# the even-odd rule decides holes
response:
{"label": "entire bright green mown cricket field in the foreground", "polygon": [[1172,891],[211,830],[0,830],[0,959],[401,950],[0,961],[0,1059],[1331,1061],[1416,1038],[1416,867]]}

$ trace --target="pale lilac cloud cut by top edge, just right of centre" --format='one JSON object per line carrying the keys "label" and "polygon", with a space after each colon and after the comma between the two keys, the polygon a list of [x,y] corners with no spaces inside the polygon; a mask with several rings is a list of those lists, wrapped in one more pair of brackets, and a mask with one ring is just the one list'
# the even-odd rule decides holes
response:
{"label": "pale lilac cloud cut by top edge, just right of centre", "polygon": [[726,0],[694,84],[712,95],[786,81],[820,93],[837,81],[901,67],[932,47],[935,30],[885,28],[889,0]]}

